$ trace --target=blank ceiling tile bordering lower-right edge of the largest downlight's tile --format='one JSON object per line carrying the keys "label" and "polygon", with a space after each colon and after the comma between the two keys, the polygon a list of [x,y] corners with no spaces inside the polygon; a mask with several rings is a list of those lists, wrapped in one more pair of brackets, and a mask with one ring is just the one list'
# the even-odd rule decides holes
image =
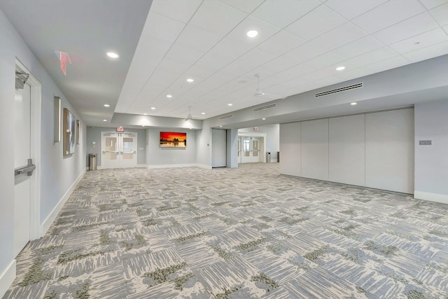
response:
{"label": "blank ceiling tile bordering lower-right edge of the largest downlight's tile", "polygon": [[306,41],[300,37],[290,34],[286,30],[281,30],[274,36],[271,36],[267,41],[260,43],[257,48],[265,50],[276,55],[283,55],[284,53],[297,48]]}

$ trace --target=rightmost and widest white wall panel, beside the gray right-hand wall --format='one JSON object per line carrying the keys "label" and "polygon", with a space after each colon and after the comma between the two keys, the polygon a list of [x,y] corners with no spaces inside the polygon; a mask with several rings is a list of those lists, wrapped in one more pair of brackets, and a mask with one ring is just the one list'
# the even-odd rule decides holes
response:
{"label": "rightmost and widest white wall panel, beside the gray right-hand wall", "polygon": [[414,109],[365,115],[367,187],[414,193]]}

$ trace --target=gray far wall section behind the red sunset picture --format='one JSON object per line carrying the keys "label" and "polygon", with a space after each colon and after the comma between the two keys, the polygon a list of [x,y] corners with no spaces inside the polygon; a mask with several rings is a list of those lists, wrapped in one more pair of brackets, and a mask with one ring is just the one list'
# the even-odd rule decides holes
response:
{"label": "gray far wall section behind the red sunset picture", "polygon": [[[186,148],[161,148],[160,132],[187,133]],[[151,166],[185,165],[196,163],[196,131],[151,127],[146,129],[146,164]]]}

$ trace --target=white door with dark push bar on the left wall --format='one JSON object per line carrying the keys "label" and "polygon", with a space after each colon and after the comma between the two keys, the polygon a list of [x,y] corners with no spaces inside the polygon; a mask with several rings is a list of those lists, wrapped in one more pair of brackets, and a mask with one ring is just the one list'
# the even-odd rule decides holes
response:
{"label": "white door with dark push bar on the left wall", "polygon": [[30,239],[31,176],[25,167],[31,157],[31,87],[15,90],[14,100],[14,256]]}

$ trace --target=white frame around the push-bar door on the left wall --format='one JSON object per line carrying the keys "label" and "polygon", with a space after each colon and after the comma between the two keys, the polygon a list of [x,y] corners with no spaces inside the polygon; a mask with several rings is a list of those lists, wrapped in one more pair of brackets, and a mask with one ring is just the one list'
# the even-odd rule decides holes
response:
{"label": "white frame around the push-bar door on the left wall", "polygon": [[[31,159],[36,165],[34,174],[30,178],[31,195],[29,202],[29,239],[42,237],[41,225],[41,110],[42,84],[31,74],[22,62],[15,58],[15,69],[29,74],[27,83],[31,86]],[[11,86],[11,88],[14,88]],[[12,174],[11,174],[12,175]]]}

